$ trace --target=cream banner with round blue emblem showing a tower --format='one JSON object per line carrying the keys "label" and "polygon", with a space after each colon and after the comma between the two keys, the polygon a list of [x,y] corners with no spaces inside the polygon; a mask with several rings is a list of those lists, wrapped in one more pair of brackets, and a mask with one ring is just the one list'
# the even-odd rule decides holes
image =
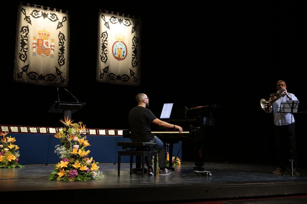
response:
{"label": "cream banner with round blue emblem showing a tower", "polygon": [[140,85],[141,20],[99,13],[97,81]]}

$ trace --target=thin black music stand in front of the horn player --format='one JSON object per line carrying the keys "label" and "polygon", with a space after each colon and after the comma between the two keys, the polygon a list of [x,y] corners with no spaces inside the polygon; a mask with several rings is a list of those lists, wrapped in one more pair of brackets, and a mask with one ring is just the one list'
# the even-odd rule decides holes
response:
{"label": "thin black music stand in front of the horn player", "polygon": [[[279,107],[279,111],[277,113],[291,113],[291,124],[292,124],[293,123],[293,113],[297,113],[298,104],[299,104],[299,102],[297,100],[288,100],[287,102],[281,102],[280,103],[280,107]],[[290,138],[291,138],[291,144],[290,144],[291,145],[291,150],[290,150],[291,158],[290,158],[289,161],[291,162],[291,175],[293,177],[293,163],[294,163],[294,165],[295,165],[296,169],[298,170],[298,172],[300,172],[301,175],[304,176],[302,174],[301,170],[297,167],[297,164],[295,163],[295,161],[293,159],[292,126],[291,126],[291,136],[290,136]],[[284,170],[284,172],[285,172],[285,170]],[[282,175],[284,174],[284,172],[282,172]]]}

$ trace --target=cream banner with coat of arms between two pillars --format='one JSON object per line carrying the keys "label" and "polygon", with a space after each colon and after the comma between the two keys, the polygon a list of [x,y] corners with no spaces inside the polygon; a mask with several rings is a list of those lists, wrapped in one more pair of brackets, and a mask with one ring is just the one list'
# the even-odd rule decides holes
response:
{"label": "cream banner with coat of arms between two pillars", "polygon": [[68,83],[68,12],[20,5],[14,80],[66,86]]}

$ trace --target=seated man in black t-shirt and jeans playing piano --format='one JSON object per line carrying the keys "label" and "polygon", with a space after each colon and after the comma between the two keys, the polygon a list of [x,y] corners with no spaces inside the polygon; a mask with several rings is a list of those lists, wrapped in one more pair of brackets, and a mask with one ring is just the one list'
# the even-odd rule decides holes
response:
{"label": "seated man in black t-shirt and jeans playing piano", "polygon": [[[132,142],[150,142],[157,143],[154,147],[158,151],[159,157],[159,175],[169,175],[172,171],[165,168],[165,146],[164,143],[157,138],[150,130],[150,122],[159,125],[164,128],[178,129],[182,132],[182,128],[178,125],[169,124],[165,121],[159,120],[149,109],[149,97],[146,94],[138,94],[135,97],[138,106],[130,110],[128,115],[128,121],[131,131]],[[151,167],[151,158],[146,157],[146,165],[148,167],[148,175],[153,175],[153,169]]]}

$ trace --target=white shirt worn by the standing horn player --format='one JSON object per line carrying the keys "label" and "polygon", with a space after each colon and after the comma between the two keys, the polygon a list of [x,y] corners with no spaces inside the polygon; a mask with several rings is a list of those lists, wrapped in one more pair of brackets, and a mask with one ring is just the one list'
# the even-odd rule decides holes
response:
{"label": "white shirt worn by the standing horn player", "polygon": [[293,114],[292,114],[292,121],[291,121],[291,113],[277,113],[279,111],[280,103],[285,103],[289,100],[297,100],[294,94],[290,94],[290,96],[291,96],[291,99],[288,98],[284,94],[282,97],[278,98],[278,100],[272,104],[272,108],[273,108],[272,111],[274,115],[274,125],[281,126],[281,125],[291,124],[291,122],[294,123]]}

